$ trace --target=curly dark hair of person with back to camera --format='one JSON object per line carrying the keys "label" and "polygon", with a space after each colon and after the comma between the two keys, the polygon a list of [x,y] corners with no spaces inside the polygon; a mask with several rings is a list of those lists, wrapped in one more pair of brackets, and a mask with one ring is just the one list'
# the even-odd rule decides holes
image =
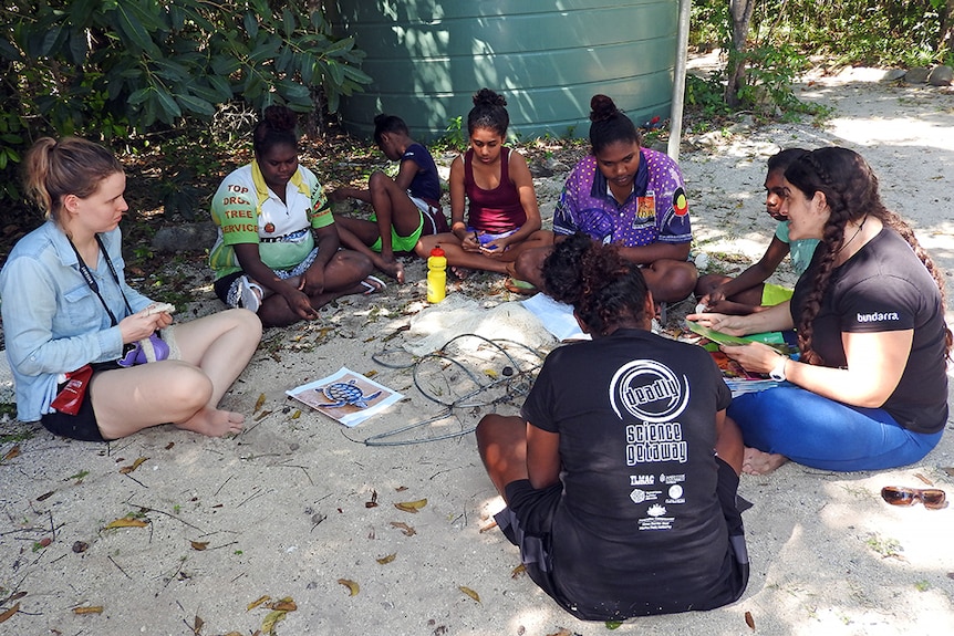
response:
{"label": "curly dark hair of person with back to camera", "polygon": [[591,333],[609,335],[646,321],[646,281],[639,265],[620,256],[619,246],[578,232],[543,261],[543,281],[550,295],[573,305]]}

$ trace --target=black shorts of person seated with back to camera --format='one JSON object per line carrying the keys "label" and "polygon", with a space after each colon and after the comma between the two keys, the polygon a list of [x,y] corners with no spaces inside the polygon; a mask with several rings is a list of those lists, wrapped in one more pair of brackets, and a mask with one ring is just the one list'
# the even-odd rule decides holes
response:
{"label": "black shorts of person seated with back to camera", "polygon": [[[748,551],[742,524],[742,513],[737,501],[738,476],[723,459],[716,457],[718,465],[717,497],[728,526],[729,544],[723,565],[724,588],[711,598],[699,603],[697,609],[713,609],[739,599],[748,584]],[[563,484],[557,482],[541,490],[533,489],[530,481],[519,479],[507,484],[508,507],[494,519],[505,536],[520,549],[520,561],[527,575],[563,609],[584,621],[603,621],[604,617],[588,616],[567,598],[553,577],[550,535],[553,517],[562,497]],[[562,555],[562,559],[585,559],[585,554]]]}

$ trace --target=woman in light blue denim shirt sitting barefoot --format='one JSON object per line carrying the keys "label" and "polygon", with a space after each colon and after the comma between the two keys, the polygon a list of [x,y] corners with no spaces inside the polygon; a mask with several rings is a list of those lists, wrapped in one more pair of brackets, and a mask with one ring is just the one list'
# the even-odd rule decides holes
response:
{"label": "woman in light blue denim shirt sitting barefoot", "polygon": [[[118,228],[128,209],[123,167],[105,148],[44,137],[24,161],[25,189],[48,221],[23,237],[0,272],[3,333],[17,411],[51,432],[117,439],[170,423],[204,435],[241,429],[218,409],[261,338],[245,310],[172,326],[172,315],[125,283]],[[127,345],[162,330],[168,359],[121,367]],[[52,407],[66,374],[92,365],[76,415]]]}

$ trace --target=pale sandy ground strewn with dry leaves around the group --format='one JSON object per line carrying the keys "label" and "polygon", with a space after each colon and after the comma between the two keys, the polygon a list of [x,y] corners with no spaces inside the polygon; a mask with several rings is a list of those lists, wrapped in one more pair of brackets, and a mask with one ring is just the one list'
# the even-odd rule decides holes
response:
{"label": "pale sandy ground strewn with dry leaves around the group", "polygon": [[[739,124],[687,138],[681,163],[697,250],[727,268],[760,256],[774,227],[763,211],[766,158],[780,146],[841,144],[874,166],[885,199],[913,222],[950,280],[954,97],[874,80],[856,72],[806,83],[802,98],[834,108],[820,128]],[[561,179],[538,183],[546,212]],[[419,337],[408,326],[426,306],[422,264],[408,261],[408,272],[412,282],[401,288],[344,299],[314,324],[268,332],[225,400],[249,414],[236,438],[160,427],[95,445],[3,425],[0,434],[27,438],[0,446],[0,613],[19,607],[0,634],[221,635],[272,625],[295,635],[606,633],[515,574],[516,549],[488,528],[501,502],[469,432],[485,413],[517,411],[538,362],[533,351],[553,342],[530,323],[511,332],[519,312],[489,307],[512,296],[498,278],[480,275],[450,285],[448,303],[473,299],[478,309],[471,324],[448,327],[530,348],[508,344],[506,358],[454,346],[445,358],[407,366],[415,358],[403,347]],[[791,283],[790,272],[779,280]],[[216,309],[208,288],[205,295],[191,313]],[[342,366],[406,398],[346,429],[286,397]],[[504,378],[505,366],[516,372],[510,382],[459,398],[491,385],[495,374]],[[450,418],[386,435],[439,416],[446,409],[438,403],[454,399]],[[374,446],[364,444],[374,436]],[[382,445],[393,441],[413,444]],[[754,507],[744,515],[753,570],[743,598],[706,613],[633,619],[618,632],[748,634],[749,616],[766,635],[950,634],[954,509],[891,508],[878,492],[930,481],[954,494],[952,467],[948,432],[903,469],[831,473],[787,465],[744,477],[740,493]],[[423,499],[417,512],[395,507]],[[105,528],[126,515],[146,523]],[[262,596],[269,601],[250,608]],[[282,598],[294,609],[272,614],[267,606]]]}

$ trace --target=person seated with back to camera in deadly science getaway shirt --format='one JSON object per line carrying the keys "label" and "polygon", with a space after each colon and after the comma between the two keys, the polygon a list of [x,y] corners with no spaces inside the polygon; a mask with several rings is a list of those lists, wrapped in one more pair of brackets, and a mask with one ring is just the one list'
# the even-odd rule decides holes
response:
{"label": "person seated with back to camera in deadly science getaway shirt", "polygon": [[498,526],[587,621],[720,607],[748,582],[732,396],[704,348],[650,331],[643,271],[582,233],[558,243],[546,289],[593,340],[547,356],[520,416],[477,426]]}

